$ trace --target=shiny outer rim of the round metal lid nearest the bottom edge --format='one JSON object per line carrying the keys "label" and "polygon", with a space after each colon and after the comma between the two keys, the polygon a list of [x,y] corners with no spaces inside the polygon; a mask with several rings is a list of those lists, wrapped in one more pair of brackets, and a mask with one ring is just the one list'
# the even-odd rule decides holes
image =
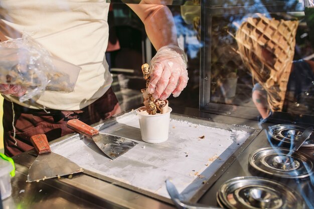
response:
{"label": "shiny outer rim of the round metal lid nearest the bottom edge", "polygon": [[[255,181],[255,182],[254,182]],[[277,188],[281,188],[281,192],[285,191],[286,193],[290,194],[290,196],[294,197],[292,201],[290,202],[296,202],[296,205],[293,207],[290,207],[291,209],[302,209],[304,208],[304,201],[301,198],[301,196],[299,194],[297,194],[296,192],[294,192],[292,189],[288,188],[287,186],[275,182],[271,179],[267,179],[267,178],[262,178],[262,177],[257,177],[257,176],[240,176],[240,177],[235,177],[235,178],[231,178],[227,181],[225,181],[218,189],[217,191],[217,201],[219,203],[220,206],[224,206],[228,209],[238,209],[238,208],[242,208],[242,209],[256,209],[258,207],[246,207],[245,205],[241,204],[240,201],[238,201],[238,203],[240,203],[240,205],[232,205],[227,201],[227,196],[228,194],[226,194],[226,191],[230,188],[231,185],[234,184],[240,184],[241,186],[239,186],[238,188],[243,188],[244,186],[263,186],[266,187],[267,184],[257,184],[258,182],[262,182],[262,183],[268,183],[268,185],[275,185],[277,186]],[[275,188],[269,187],[272,190],[275,190]],[[280,193],[280,191],[278,191],[278,193]],[[284,195],[283,195],[284,196]],[[289,202],[289,203],[290,203]],[[240,207],[239,207],[240,206]],[[277,207],[280,209],[288,209],[287,207]],[[289,208],[289,209],[290,209]]]}

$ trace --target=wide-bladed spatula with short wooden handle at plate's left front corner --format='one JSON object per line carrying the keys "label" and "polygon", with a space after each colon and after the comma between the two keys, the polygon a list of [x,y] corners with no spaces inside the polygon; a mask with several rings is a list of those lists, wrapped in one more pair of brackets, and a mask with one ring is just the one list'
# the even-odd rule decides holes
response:
{"label": "wide-bladed spatula with short wooden handle at plate's left front corner", "polygon": [[40,181],[48,178],[69,175],[82,172],[83,168],[75,162],[53,153],[45,134],[38,134],[31,137],[31,142],[38,153],[37,158],[30,167],[27,181]]}

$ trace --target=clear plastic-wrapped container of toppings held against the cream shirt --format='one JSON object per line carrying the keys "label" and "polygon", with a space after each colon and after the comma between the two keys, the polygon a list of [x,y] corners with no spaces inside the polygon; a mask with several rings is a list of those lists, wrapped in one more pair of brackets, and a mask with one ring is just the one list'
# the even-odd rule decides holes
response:
{"label": "clear plastic-wrapped container of toppings held against the cream shirt", "polygon": [[72,92],[81,69],[51,56],[27,35],[0,42],[0,55],[0,84],[3,84],[0,93],[26,90],[21,102],[43,91]]}

